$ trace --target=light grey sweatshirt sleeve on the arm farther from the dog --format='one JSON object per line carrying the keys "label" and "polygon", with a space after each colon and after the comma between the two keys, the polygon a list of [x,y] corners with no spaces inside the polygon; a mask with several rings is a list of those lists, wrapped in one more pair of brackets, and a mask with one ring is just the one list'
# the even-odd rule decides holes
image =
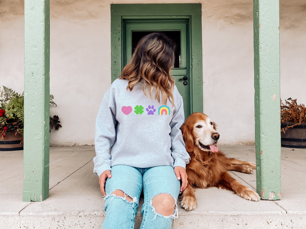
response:
{"label": "light grey sweatshirt sleeve on the arm farther from the dog", "polygon": [[95,164],[93,172],[99,177],[105,170],[111,170],[109,150],[116,137],[116,103],[115,99],[107,93],[104,94],[95,123],[96,156],[93,159]]}

